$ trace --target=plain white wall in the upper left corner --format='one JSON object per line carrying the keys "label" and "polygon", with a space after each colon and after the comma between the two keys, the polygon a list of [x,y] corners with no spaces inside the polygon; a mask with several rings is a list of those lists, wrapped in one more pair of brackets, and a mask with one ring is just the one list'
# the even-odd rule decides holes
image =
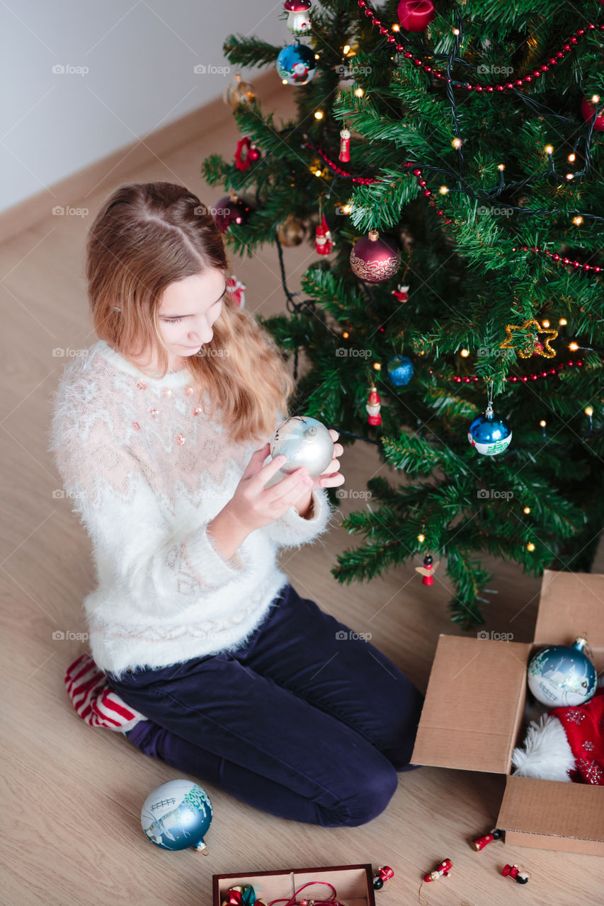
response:
{"label": "plain white wall in the upper left corner", "polygon": [[[282,0],[3,0],[0,210],[219,97],[239,71],[210,71],[229,66],[225,38],[291,43],[282,12]],[[240,72],[253,82],[268,67]]]}

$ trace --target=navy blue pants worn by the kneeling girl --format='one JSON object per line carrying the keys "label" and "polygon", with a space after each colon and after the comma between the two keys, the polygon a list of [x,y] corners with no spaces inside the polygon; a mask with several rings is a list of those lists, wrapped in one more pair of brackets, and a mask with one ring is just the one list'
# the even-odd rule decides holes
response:
{"label": "navy blue pants worn by the kneeling girl", "polygon": [[423,702],[381,651],[289,583],[237,651],[107,678],[150,718],[127,734],[145,755],[325,827],[384,811],[411,767]]}

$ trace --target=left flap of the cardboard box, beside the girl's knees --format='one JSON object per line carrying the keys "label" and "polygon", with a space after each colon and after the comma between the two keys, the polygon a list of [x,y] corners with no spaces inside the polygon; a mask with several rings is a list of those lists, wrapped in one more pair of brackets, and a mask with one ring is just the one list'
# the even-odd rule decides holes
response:
{"label": "left flap of the cardboard box, beside the girl's knees", "polygon": [[507,774],[530,650],[521,642],[441,635],[412,763]]}

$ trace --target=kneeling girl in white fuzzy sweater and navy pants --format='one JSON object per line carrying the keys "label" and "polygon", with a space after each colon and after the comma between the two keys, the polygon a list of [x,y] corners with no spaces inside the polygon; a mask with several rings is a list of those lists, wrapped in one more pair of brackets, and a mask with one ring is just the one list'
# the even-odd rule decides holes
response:
{"label": "kneeling girl in white fuzzy sweater and navy pants", "polygon": [[422,696],[278,568],[326,532],[343,448],[265,487],[293,381],[228,268],[177,185],[122,186],[91,228],[99,339],[63,371],[49,449],[93,542],[92,657],[144,754],[270,814],[364,824],[410,767]]}

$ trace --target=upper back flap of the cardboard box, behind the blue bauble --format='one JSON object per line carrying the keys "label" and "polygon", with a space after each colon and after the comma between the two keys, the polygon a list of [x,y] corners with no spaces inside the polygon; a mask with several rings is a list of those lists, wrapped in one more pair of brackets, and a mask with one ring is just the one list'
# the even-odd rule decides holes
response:
{"label": "upper back flap of the cardboard box, behind the blue bauble", "polygon": [[571,645],[580,635],[604,648],[604,575],[544,570],[535,643]]}

